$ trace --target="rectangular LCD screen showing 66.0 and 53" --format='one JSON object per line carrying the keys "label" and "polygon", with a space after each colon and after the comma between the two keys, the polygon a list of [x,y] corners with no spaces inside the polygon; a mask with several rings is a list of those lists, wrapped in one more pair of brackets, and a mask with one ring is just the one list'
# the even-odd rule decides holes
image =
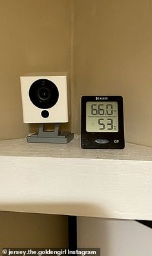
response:
{"label": "rectangular LCD screen showing 66.0 and 53", "polygon": [[118,132],[118,103],[116,101],[88,101],[86,130],[88,132]]}

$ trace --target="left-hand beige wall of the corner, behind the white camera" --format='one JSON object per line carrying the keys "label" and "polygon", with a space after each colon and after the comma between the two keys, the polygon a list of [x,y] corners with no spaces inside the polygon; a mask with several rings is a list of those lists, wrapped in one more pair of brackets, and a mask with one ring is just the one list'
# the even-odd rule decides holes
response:
{"label": "left-hand beige wall of the corner, behind the white camera", "polygon": [[21,138],[19,76],[34,71],[70,71],[71,1],[1,0],[0,139]]}

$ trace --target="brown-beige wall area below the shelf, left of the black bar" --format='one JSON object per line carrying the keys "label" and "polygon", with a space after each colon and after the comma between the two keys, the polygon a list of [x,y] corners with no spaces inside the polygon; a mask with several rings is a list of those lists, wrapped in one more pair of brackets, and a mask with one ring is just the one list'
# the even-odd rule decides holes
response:
{"label": "brown-beige wall area below the shelf, left of the black bar", "polygon": [[0,248],[66,248],[67,217],[0,212]]}

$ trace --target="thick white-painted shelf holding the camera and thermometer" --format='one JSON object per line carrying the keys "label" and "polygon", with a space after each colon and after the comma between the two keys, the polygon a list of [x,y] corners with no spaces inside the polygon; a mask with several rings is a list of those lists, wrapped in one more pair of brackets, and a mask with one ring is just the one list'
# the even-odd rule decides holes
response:
{"label": "thick white-painted shelf holding the camera and thermometer", "polygon": [[0,211],[152,220],[152,148],[0,141]]}

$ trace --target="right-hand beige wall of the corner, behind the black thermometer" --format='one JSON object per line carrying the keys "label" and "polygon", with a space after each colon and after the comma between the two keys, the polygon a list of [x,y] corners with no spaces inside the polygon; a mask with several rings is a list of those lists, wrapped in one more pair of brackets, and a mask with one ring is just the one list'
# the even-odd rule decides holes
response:
{"label": "right-hand beige wall of the corner, behind the black thermometer", "polygon": [[74,3],[74,131],[82,95],[122,95],[126,141],[152,146],[152,1]]}

